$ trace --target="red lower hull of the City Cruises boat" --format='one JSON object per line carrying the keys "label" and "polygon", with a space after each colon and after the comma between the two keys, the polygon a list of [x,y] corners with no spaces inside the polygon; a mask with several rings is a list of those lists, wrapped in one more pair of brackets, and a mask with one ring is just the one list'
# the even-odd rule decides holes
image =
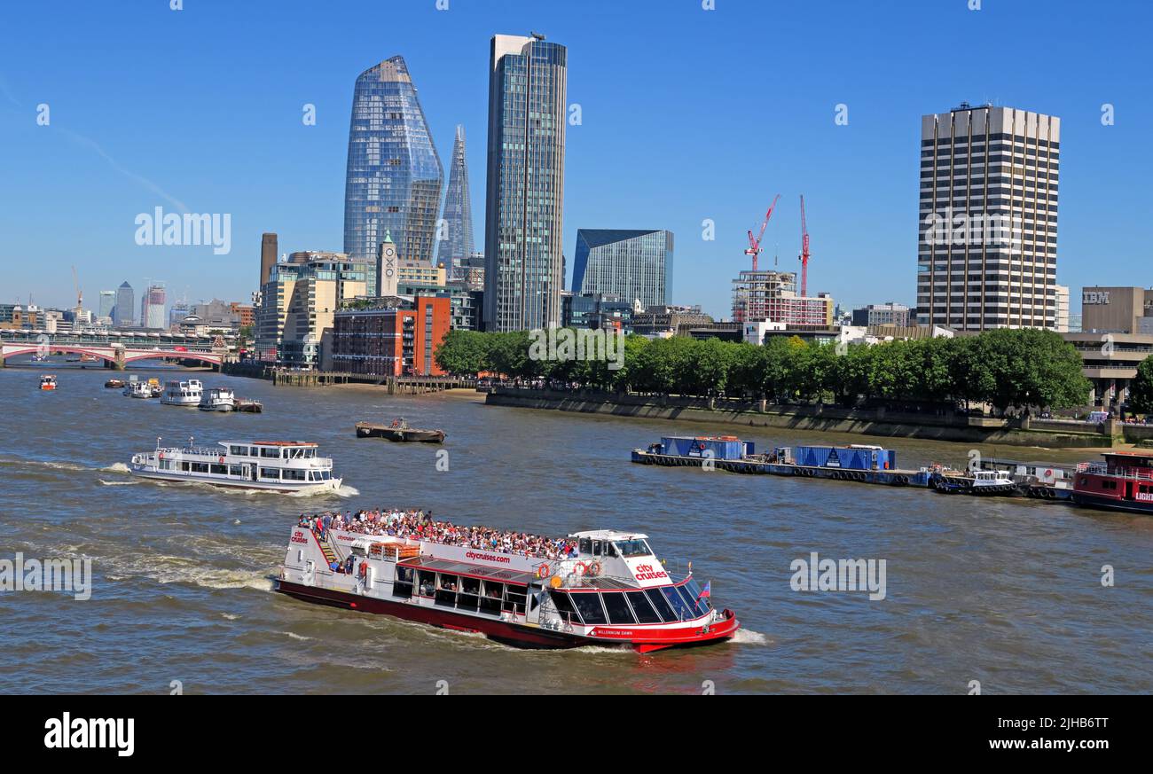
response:
{"label": "red lower hull of the City Cruises boat", "polygon": [[[714,624],[710,628],[710,631],[706,635],[701,635],[694,629],[680,629],[664,630],[669,633],[651,632],[650,636],[585,637],[564,631],[553,631],[537,625],[512,623],[499,619],[467,615],[464,613],[457,613],[455,610],[392,601],[389,599],[354,594],[334,589],[306,586],[303,584],[285,579],[277,582],[277,591],[306,602],[340,607],[360,613],[391,615],[405,621],[427,623],[429,625],[452,629],[455,631],[480,632],[488,638],[505,645],[536,650],[558,650],[581,647],[585,645],[601,645],[632,647],[641,653],[648,653],[666,647],[708,645],[723,642],[731,639],[740,628],[740,623],[737,621],[736,616],[726,610],[726,619],[721,623]],[[611,631],[623,630],[615,630],[611,627],[605,628],[605,632]]]}

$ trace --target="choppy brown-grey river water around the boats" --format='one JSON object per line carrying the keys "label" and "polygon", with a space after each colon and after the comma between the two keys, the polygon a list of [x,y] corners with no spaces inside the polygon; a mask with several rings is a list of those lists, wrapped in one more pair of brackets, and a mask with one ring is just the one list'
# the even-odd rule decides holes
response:
{"label": "choppy brown-grey river water around the boats", "polygon": [[[37,389],[55,373],[59,389]],[[134,367],[161,379],[174,371]],[[485,407],[481,395],[389,396],[188,373],[264,402],[210,413],[105,389],[71,364],[0,370],[0,559],[92,560],[86,601],[0,592],[0,692],[1153,692],[1153,518],[1030,500],[630,463],[662,434],[731,425]],[[122,374],[116,374],[122,375]],[[442,427],[443,447],[355,438],[357,420]],[[881,443],[900,466],[963,466],[970,445],[755,428],[776,442]],[[157,437],[182,445],[309,440],[339,494],[285,496],[133,479]],[[438,449],[449,470],[438,470]],[[997,447],[1075,462],[1085,451]],[[443,466],[443,465],[442,465]],[[405,506],[545,534],[618,528],[693,561],[743,630],[730,643],[638,655],[521,651],[480,636],[273,593],[304,511]],[[794,591],[790,564],[884,560],[884,599]],[[1103,586],[1110,566],[1115,585]]]}

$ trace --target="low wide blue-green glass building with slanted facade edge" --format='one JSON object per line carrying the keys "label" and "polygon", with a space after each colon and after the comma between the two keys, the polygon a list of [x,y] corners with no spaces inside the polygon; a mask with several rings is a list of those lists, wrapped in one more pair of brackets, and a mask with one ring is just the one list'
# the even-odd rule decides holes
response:
{"label": "low wide blue-green glass building with slanted facade edge", "polygon": [[646,309],[669,303],[672,233],[582,228],[576,232],[573,293],[640,301]]}

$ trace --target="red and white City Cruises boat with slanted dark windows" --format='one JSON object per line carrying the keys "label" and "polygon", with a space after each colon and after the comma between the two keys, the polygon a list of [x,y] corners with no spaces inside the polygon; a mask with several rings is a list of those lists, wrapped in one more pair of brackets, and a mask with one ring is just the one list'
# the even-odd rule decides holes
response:
{"label": "red and white City Cruises boat with slanted dark windows", "polygon": [[[675,578],[648,537],[568,536],[579,555],[548,561],[295,526],[277,591],[322,605],[481,632],[518,647],[631,646],[641,653],[731,638],[740,622],[713,608],[692,578]],[[353,571],[331,569],[334,564]]]}

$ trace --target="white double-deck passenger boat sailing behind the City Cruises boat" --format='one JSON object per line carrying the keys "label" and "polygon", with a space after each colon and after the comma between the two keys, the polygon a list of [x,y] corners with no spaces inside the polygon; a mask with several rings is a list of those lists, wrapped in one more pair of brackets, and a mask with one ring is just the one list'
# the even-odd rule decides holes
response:
{"label": "white double-deck passenger boat sailing behind the City Cruises boat", "polygon": [[133,476],[163,481],[199,481],[271,492],[322,492],[340,488],[332,460],[316,456],[306,441],[220,441],[218,448],[163,447],[133,455]]}

